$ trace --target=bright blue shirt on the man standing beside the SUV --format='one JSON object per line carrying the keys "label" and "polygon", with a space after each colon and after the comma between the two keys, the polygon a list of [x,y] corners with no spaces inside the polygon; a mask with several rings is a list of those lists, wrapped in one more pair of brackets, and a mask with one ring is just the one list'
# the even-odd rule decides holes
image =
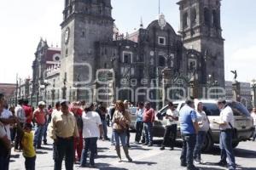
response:
{"label": "bright blue shirt on the man standing beside the SUV", "polygon": [[183,134],[195,134],[193,122],[196,121],[196,112],[189,105],[184,105],[179,111],[180,131]]}

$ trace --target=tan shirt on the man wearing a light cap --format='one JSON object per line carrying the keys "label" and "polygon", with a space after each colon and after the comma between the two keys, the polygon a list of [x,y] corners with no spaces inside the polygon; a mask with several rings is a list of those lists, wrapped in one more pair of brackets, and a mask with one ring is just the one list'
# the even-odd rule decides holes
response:
{"label": "tan shirt on the man wearing a light cap", "polygon": [[49,132],[52,139],[56,139],[57,136],[61,138],[79,137],[76,118],[72,113],[65,115],[61,111],[55,112],[52,116]]}

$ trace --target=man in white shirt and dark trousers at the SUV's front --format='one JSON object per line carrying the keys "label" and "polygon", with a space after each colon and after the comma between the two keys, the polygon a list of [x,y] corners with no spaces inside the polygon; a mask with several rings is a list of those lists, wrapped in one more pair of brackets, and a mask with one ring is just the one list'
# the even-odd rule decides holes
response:
{"label": "man in white shirt and dark trousers at the SUV's front", "polygon": [[171,136],[170,146],[171,146],[171,150],[173,150],[175,140],[176,140],[176,135],[177,135],[178,112],[175,110],[172,102],[168,104],[168,107],[169,109],[166,111],[166,121],[167,121],[166,132],[165,132],[164,140],[160,147],[160,150],[165,150],[165,146],[166,144],[168,144],[170,136]]}

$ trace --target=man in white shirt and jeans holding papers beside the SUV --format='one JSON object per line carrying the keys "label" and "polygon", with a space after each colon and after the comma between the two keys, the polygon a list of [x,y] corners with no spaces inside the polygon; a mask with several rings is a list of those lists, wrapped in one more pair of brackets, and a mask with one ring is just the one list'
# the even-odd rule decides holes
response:
{"label": "man in white shirt and jeans holding papers beside the SUV", "polygon": [[226,104],[224,99],[218,100],[218,109],[220,110],[219,121],[214,121],[219,125],[219,147],[220,147],[220,158],[218,162],[220,166],[226,166],[228,157],[229,169],[236,169],[236,160],[232,147],[232,134],[234,127],[234,115],[229,105]]}

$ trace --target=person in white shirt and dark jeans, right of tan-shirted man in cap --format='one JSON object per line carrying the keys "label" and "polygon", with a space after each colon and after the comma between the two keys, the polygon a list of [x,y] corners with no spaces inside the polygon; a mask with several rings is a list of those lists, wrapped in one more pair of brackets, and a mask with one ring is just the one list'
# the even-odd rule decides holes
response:
{"label": "person in white shirt and dark jeans, right of tan-shirted man in cap", "polygon": [[94,111],[92,103],[85,105],[85,111],[82,115],[83,120],[83,139],[84,149],[81,157],[81,167],[86,167],[86,159],[88,150],[90,150],[90,167],[95,167],[95,153],[97,139],[102,136],[102,121],[99,114]]}

